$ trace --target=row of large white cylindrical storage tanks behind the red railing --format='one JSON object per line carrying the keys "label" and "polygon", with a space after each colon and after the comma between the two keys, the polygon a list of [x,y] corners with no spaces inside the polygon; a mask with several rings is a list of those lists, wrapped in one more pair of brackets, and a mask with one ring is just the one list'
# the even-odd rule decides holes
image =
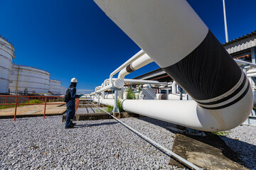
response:
{"label": "row of large white cylindrical storage tanks behind the red railing", "polygon": [[14,45],[0,37],[0,94],[63,95],[61,81],[50,79],[50,73],[34,67],[12,64]]}

